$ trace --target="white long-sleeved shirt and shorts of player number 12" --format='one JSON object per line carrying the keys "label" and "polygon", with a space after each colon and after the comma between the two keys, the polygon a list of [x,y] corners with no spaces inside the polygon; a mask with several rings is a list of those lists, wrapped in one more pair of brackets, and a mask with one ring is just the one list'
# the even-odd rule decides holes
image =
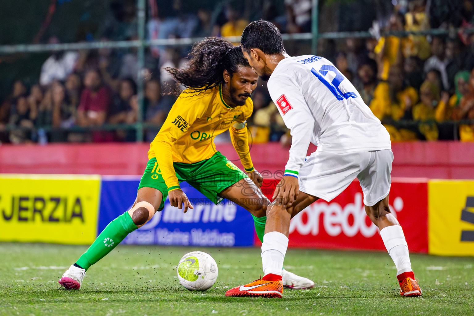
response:
{"label": "white long-sleeved shirt and shorts of player number 12", "polygon": [[[291,130],[285,175],[298,177],[300,191],[329,202],[357,177],[365,205],[388,195],[390,135],[331,62],[314,55],[284,58],[268,91]],[[310,142],[318,150],[306,157]]]}

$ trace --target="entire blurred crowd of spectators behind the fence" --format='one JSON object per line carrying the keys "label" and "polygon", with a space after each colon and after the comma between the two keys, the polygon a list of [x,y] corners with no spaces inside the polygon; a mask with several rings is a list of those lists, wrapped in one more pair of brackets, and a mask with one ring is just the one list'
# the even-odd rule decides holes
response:
{"label": "entire blurred crowd of spectators behind the fence", "polygon": [[[239,36],[249,22],[242,18],[248,15],[240,2],[227,2],[219,16],[211,19],[211,12],[205,9],[181,14],[181,2],[177,0],[172,1],[168,16],[160,17],[155,2],[149,1],[147,36]],[[260,17],[272,21],[282,33],[310,31],[311,0],[284,0],[283,14],[273,1],[262,3]],[[384,30],[429,29],[436,18],[437,27],[472,28],[472,1],[462,4],[461,24],[456,22],[459,25],[430,15],[432,8],[424,0],[392,3],[396,4],[392,12],[374,22],[371,38],[325,40],[320,42],[319,54],[356,86],[392,141],[474,141],[474,124],[461,124],[474,120],[474,34],[461,31],[449,36],[381,36]],[[135,2],[125,4],[119,16],[104,22],[100,40],[137,38]],[[49,43],[58,42],[55,36],[49,39]],[[290,54],[309,53],[297,42],[286,43],[286,47]],[[175,83],[164,68],[185,67],[188,50],[146,49],[145,68],[140,72],[145,96],[141,113],[136,49],[54,52],[44,62],[37,84],[27,86],[15,81],[4,98],[0,105],[0,142],[135,141],[133,128],[83,131],[73,127],[133,124],[139,116],[149,123],[145,140],[151,141],[176,98],[171,93]],[[264,82],[252,99],[254,114],[247,123],[253,142],[291,141]],[[221,140],[225,141],[225,136]]]}

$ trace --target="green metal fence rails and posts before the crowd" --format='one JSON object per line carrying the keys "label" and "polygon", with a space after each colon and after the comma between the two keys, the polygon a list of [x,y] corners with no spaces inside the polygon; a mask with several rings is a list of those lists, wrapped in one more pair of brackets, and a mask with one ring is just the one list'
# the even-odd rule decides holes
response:
{"label": "green metal fence rails and posts before the crowd", "polygon": [[[318,49],[319,39],[344,39],[344,38],[369,38],[372,35],[368,31],[358,32],[325,32],[319,33],[318,22],[319,22],[319,0],[312,0],[312,24],[311,33],[299,33],[299,34],[282,34],[284,41],[287,40],[306,40],[311,41],[311,53],[316,54]],[[61,128],[64,131],[71,132],[86,132],[91,130],[118,130],[128,129],[136,130],[136,140],[138,142],[144,139],[144,129],[146,128],[159,128],[153,124],[144,123],[143,118],[143,106],[144,106],[144,81],[141,74],[141,70],[145,64],[145,49],[149,46],[189,46],[196,42],[199,42],[203,37],[195,38],[167,38],[167,39],[146,39],[146,0],[137,0],[137,25],[138,25],[138,39],[129,41],[97,41],[97,42],[83,42],[83,43],[63,43],[63,44],[22,44],[22,45],[0,45],[0,54],[16,54],[16,53],[42,53],[51,51],[66,51],[66,50],[91,50],[100,48],[137,48],[137,60],[138,60],[138,73],[137,73],[137,97],[138,97],[138,119],[135,124],[104,124],[101,126],[91,127],[80,127],[74,126],[71,128]],[[428,29],[423,31],[390,31],[381,32],[381,36],[407,36],[407,35],[433,35],[442,36],[456,34],[461,29]],[[474,33],[474,29],[462,29],[465,33]],[[240,42],[240,36],[229,36],[223,37],[230,42]],[[447,124],[454,126],[457,130],[459,124],[474,124],[473,121],[449,121]],[[400,122],[396,125],[399,127],[417,126],[419,122]],[[7,126],[8,129],[12,129],[12,126]],[[44,128],[46,131],[54,130],[52,127]],[[455,132],[457,135],[457,132]]]}

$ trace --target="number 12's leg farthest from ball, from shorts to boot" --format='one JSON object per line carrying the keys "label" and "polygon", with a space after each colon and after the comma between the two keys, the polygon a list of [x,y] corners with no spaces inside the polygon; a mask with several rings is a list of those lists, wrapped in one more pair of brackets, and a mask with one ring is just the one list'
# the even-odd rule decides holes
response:
{"label": "number 12's leg farthest from ball, from shorts to boot", "polygon": [[408,244],[398,220],[389,208],[390,172],[393,154],[390,150],[371,152],[369,165],[357,178],[364,191],[365,212],[380,229],[383,244],[397,268],[400,294],[420,296],[421,289],[411,270]]}

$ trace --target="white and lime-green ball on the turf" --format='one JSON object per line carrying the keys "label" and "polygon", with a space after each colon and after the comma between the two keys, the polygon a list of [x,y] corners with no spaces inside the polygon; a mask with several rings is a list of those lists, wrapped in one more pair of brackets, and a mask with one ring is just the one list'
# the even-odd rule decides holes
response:
{"label": "white and lime-green ball on the turf", "polygon": [[205,291],[217,280],[217,263],[207,253],[186,253],[178,263],[178,279],[190,291]]}

